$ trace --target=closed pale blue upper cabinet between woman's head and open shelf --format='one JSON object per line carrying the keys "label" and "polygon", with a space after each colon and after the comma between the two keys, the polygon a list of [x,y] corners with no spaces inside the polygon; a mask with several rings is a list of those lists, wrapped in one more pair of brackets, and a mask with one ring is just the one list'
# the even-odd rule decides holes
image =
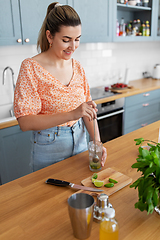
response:
{"label": "closed pale blue upper cabinet between woman's head and open shelf", "polygon": [[73,0],[82,21],[81,42],[111,41],[113,0]]}

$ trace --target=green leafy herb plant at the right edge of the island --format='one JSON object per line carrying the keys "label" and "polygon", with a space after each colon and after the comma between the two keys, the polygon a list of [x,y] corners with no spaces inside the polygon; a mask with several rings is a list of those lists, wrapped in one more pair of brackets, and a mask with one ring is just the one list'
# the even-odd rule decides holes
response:
{"label": "green leafy herb plant at the right edge of the island", "polygon": [[[141,211],[146,210],[149,214],[153,213],[160,200],[160,143],[143,138],[134,139],[134,141],[140,147],[137,162],[132,165],[132,168],[137,168],[137,171],[142,174],[130,185],[130,188],[138,188],[139,199],[135,203],[135,208]],[[144,142],[147,142],[148,149],[142,147]]]}

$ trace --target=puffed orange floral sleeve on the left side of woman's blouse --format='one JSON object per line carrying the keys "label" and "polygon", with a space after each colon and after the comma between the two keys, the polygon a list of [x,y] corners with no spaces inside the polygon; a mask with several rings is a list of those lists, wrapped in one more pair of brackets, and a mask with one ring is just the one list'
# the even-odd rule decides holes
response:
{"label": "puffed orange floral sleeve on the left side of woman's blouse", "polygon": [[29,59],[25,59],[20,67],[15,93],[14,113],[19,118],[25,115],[37,115],[41,112],[41,99],[38,91],[38,80],[34,67]]}

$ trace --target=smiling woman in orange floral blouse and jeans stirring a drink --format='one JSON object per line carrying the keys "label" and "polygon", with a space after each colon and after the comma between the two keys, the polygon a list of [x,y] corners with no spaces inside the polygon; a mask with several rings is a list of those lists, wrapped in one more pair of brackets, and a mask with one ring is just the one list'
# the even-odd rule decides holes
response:
{"label": "smiling woman in orange floral blouse and jeans stirring a drink", "polygon": [[[14,111],[22,131],[32,130],[33,171],[87,150],[84,124],[94,137],[96,104],[80,63],[81,21],[68,5],[48,6],[37,47],[41,53],[22,62]],[[96,140],[100,141],[96,122]],[[103,147],[104,166],[106,149]]]}

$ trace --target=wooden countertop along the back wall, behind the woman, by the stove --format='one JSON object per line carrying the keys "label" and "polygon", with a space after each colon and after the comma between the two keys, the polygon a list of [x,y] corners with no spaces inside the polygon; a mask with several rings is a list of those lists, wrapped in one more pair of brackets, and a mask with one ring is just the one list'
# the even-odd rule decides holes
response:
{"label": "wooden countertop along the back wall, behind the woman, by the stove", "polygon": [[[129,97],[129,96],[143,93],[146,91],[156,90],[156,89],[160,88],[160,80],[156,80],[156,79],[152,79],[152,78],[148,78],[148,79],[142,78],[139,80],[130,81],[129,85],[133,86],[135,90],[128,91],[128,92],[125,92],[122,94],[113,95],[111,97],[95,100],[96,104],[113,101],[113,100],[116,100],[116,99],[122,98],[122,97]],[[0,129],[15,126],[15,125],[18,125],[17,120],[0,123]]]}

